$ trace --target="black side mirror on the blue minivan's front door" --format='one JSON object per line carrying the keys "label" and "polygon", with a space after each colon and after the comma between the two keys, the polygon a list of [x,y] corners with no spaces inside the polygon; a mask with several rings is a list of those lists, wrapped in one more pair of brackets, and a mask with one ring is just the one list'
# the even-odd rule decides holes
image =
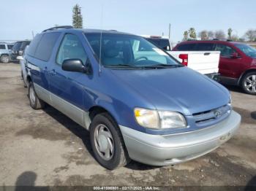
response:
{"label": "black side mirror on the blue minivan's front door", "polygon": [[87,61],[86,66],[83,66],[83,63],[80,61],[80,59],[64,60],[61,67],[64,71],[77,71],[91,74],[91,65]]}

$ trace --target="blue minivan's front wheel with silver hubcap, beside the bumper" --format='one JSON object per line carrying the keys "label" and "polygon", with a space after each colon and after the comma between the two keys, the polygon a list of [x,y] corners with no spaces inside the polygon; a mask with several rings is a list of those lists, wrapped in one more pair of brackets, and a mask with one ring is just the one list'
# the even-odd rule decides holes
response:
{"label": "blue minivan's front wheel with silver hubcap, beside the bumper", "polygon": [[129,163],[121,131],[107,112],[97,114],[92,120],[90,139],[94,156],[103,167],[113,170]]}

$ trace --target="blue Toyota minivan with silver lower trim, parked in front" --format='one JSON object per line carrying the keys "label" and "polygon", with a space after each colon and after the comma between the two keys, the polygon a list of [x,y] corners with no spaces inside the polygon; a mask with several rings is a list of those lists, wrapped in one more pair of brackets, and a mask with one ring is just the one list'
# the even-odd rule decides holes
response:
{"label": "blue Toyota minivan with silver lower trim, parked in front", "polygon": [[228,90],[140,36],[49,28],[24,56],[33,109],[45,102],[89,130],[108,169],[170,165],[219,147],[238,129]]}

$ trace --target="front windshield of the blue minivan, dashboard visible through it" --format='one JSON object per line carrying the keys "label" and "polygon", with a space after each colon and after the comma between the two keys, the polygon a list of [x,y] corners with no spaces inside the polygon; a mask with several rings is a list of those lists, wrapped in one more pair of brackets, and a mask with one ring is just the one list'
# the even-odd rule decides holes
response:
{"label": "front windshield of the blue minivan, dashboard visible through it", "polygon": [[182,66],[166,52],[140,36],[106,33],[85,35],[105,67],[165,69]]}

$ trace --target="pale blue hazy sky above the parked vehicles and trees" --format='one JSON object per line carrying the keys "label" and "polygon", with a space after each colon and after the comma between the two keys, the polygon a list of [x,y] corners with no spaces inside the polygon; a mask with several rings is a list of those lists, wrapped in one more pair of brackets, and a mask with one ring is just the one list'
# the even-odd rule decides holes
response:
{"label": "pale blue hazy sky above the parked vehicles and trees", "polygon": [[72,7],[77,3],[84,28],[167,36],[170,23],[173,42],[180,41],[190,27],[225,33],[233,28],[238,36],[256,29],[255,0],[0,0],[0,40],[31,39],[31,31],[72,25]]}

